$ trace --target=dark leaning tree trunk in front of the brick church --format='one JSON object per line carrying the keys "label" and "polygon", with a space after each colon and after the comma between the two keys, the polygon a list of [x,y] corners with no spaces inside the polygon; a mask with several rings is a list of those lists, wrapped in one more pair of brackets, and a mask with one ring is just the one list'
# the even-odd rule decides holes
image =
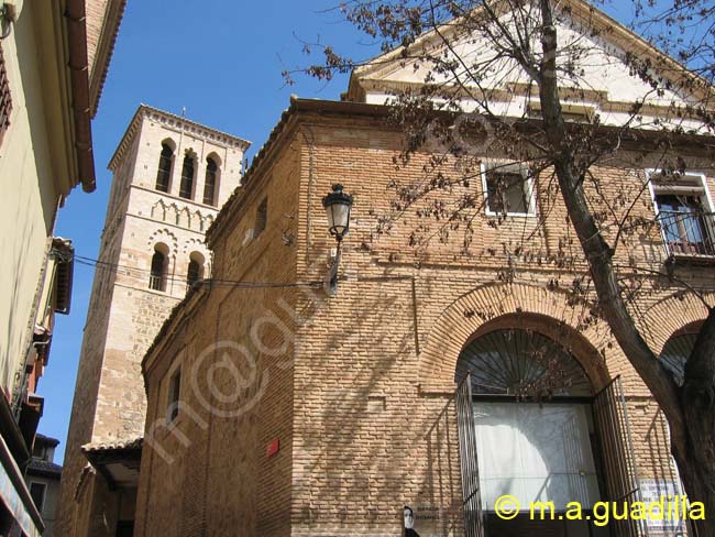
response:
{"label": "dark leaning tree trunk in front of the brick church", "polygon": [[543,22],[537,84],[543,127],[569,217],[591,268],[603,316],[624,353],[668,418],[672,452],[689,498],[702,502],[705,519],[697,537],[715,537],[715,309],[711,309],[685,368],[679,390],[642,339],[620,294],[613,252],[588,210],[583,178],[563,119],[557,79],[557,30],[551,0],[541,0]]}

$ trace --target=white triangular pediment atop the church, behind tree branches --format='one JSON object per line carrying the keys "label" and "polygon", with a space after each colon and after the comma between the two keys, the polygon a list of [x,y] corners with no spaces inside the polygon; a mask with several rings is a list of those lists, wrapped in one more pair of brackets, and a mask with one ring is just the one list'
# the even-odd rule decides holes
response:
{"label": "white triangular pediment atop the church, behind tree branches", "polygon": [[[483,8],[476,8],[480,9]],[[508,24],[510,12],[504,11],[502,17]],[[704,102],[704,96],[713,92],[704,80],[582,0],[561,2],[556,26],[559,57],[564,63],[575,57],[578,64],[572,74],[560,74],[566,109],[598,113],[602,122],[620,124],[627,121],[634,103],[642,102],[642,124],[649,123],[649,118],[668,116],[678,117],[680,127],[686,130],[700,130],[700,121],[694,117],[682,119],[681,112],[673,110]],[[465,103],[472,97],[488,100],[507,116],[524,116],[529,107],[538,107],[538,92],[528,74],[515,61],[501,57],[498,48],[485,36],[465,35],[459,21],[425,33],[408,54],[404,52],[395,50],[356,68],[348,98],[384,103],[396,92],[419,88],[432,72],[431,81],[455,88]],[[425,52],[430,57],[459,57],[464,67],[435,75],[433,64],[420,58]],[[661,83],[657,89],[634,73],[627,61],[630,55],[648,62],[649,76]],[[476,72],[479,80],[471,76]]]}

